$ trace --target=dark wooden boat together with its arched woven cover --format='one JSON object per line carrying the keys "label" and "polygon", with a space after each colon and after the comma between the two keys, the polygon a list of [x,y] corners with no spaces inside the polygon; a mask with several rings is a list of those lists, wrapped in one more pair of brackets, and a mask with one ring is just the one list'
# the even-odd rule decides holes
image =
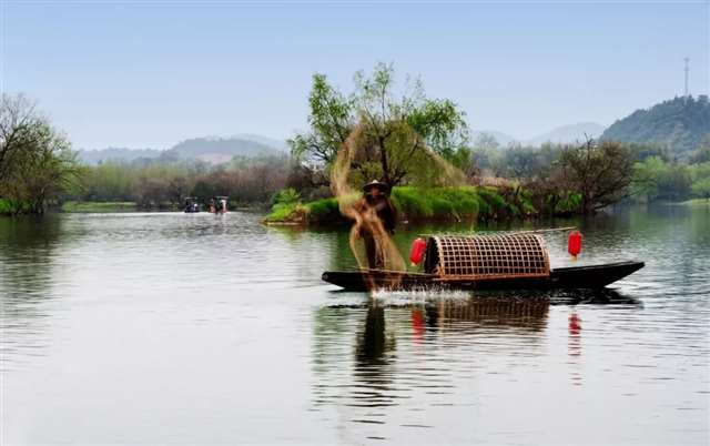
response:
{"label": "dark wooden boat together with its arched woven cover", "polygon": [[643,262],[549,267],[545,243],[536,234],[433,236],[424,273],[382,270],[326,271],[325,282],[367,290],[552,290],[602,288],[643,267]]}

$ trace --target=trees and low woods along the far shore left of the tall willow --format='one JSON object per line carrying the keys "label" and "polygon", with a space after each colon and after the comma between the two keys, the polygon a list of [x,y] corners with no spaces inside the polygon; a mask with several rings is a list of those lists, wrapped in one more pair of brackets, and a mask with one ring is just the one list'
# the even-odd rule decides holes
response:
{"label": "trees and low woods along the far shore left of the tall willow", "polygon": [[267,203],[295,172],[286,154],[235,156],[219,165],[178,159],[85,165],[34,103],[23,95],[0,99],[2,214],[42,214],[70,200],[135,202],[142,209],[176,209],[190,195]]}

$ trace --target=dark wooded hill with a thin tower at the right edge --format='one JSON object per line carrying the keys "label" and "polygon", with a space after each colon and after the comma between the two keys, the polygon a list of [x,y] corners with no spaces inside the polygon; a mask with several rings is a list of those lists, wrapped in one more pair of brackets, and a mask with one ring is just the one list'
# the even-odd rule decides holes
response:
{"label": "dark wooded hill with a thin tower at the right edge", "polygon": [[687,158],[710,134],[710,103],[707,95],[674,98],[650,109],[637,110],[616,121],[604,140],[659,144],[679,159]]}

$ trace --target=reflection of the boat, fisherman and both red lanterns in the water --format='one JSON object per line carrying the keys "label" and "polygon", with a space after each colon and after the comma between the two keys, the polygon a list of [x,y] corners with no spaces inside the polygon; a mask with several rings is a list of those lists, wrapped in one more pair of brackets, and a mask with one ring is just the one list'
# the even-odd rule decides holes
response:
{"label": "reflection of the boat, fisherman and both red lanterns in the water", "polygon": [[[491,373],[490,364],[499,363],[496,373],[503,373],[529,367],[545,355],[555,305],[641,307],[613,290],[434,297],[387,292],[322,306],[314,313],[313,404],[337,407],[342,423],[367,425],[385,424],[384,407],[425,410],[434,396],[444,398],[437,404],[456,405],[452,401],[459,392],[476,387],[484,371]],[[568,322],[567,364],[572,384],[579,386],[584,364],[576,310]],[[355,337],[348,339],[351,333]]]}

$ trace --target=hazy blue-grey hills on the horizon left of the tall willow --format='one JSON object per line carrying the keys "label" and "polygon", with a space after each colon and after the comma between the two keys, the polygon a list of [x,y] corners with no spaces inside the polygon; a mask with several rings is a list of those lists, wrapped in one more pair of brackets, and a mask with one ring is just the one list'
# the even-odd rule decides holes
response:
{"label": "hazy blue-grey hills on the horizon left of the tall willow", "polygon": [[256,156],[261,154],[283,153],[285,141],[272,140],[255,134],[231,138],[193,138],[182,141],[169,150],[109,148],[102,150],[79,151],[79,159],[87,164],[102,161],[131,162],[139,159],[202,160],[219,164],[234,156]]}

